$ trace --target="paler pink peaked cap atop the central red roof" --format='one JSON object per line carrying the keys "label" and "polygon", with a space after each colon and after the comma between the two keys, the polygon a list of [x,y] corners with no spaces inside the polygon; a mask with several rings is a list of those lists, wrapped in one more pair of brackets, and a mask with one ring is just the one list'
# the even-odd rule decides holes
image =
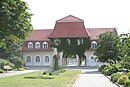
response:
{"label": "paler pink peaked cap atop the central red roof", "polygon": [[75,16],[68,15],[64,18],[57,20],[56,22],[83,22],[83,20]]}

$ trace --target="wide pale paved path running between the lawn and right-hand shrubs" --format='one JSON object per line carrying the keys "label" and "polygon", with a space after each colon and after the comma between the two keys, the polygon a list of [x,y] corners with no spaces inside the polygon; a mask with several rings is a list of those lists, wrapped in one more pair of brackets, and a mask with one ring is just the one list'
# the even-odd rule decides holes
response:
{"label": "wide pale paved path running between the lawn and right-hand shrubs", "polygon": [[73,87],[118,87],[97,69],[83,69]]}

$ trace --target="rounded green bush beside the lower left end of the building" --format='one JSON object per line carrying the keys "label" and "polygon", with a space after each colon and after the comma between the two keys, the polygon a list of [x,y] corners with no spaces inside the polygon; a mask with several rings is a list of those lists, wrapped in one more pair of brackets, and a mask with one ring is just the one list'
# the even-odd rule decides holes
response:
{"label": "rounded green bush beside the lower left end of the building", "polygon": [[17,69],[23,67],[24,61],[21,59],[21,57],[15,56],[10,59],[10,62],[15,64],[15,67]]}

